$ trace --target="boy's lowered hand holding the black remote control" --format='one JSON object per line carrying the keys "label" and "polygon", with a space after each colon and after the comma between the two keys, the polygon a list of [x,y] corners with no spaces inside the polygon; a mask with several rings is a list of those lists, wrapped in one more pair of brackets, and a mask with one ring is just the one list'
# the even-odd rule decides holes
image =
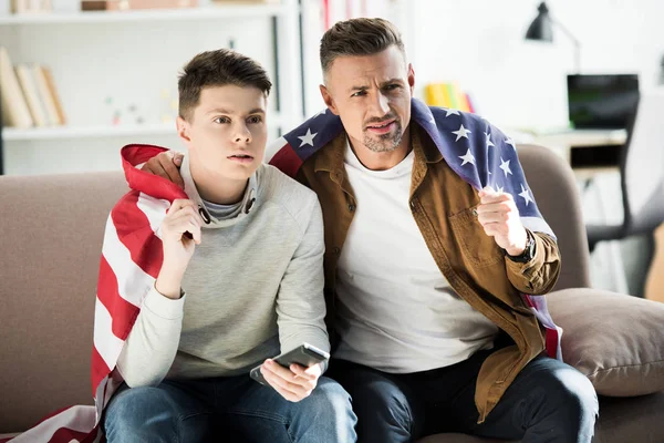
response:
{"label": "boy's lowered hand holding the black remote control", "polygon": [[291,402],[299,402],[311,394],[323,370],[320,364],[311,368],[291,364],[289,370],[268,359],[260,367],[260,372],[281,396]]}

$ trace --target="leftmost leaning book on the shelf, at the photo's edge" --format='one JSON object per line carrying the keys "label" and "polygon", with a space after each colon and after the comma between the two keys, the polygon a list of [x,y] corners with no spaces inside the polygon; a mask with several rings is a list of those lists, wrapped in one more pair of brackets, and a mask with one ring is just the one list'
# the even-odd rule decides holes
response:
{"label": "leftmost leaning book on the shelf, at the photo's edge", "polygon": [[19,79],[4,47],[0,47],[0,103],[3,125],[20,128],[33,125]]}

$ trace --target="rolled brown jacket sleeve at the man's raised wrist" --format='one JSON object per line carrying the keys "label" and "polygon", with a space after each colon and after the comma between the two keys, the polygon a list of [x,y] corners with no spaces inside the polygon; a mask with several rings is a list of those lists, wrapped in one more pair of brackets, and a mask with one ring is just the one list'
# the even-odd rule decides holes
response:
{"label": "rolled brown jacket sleeve at the man's raised wrist", "polygon": [[507,277],[515,288],[523,293],[540,296],[553,289],[560,275],[560,250],[553,237],[532,233],[535,257],[525,264],[505,257]]}

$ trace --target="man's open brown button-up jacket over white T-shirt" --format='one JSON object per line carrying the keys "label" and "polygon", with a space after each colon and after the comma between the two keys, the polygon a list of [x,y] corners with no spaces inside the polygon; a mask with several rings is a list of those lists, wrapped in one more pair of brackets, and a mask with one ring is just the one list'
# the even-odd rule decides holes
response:
{"label": "man's open brown button-up jacket over white T-shirt", "polygon": [[[425,131],[411,123],[415,163],[411,210],[428,249],[454,290],[511,338],[480,369],[475,403],[479,423],[498,403],[519,371],[544,350],[544,336],[521,292],[551,290],[560,271],[556,240],[535,234],[536,256],[527,264],[505,257],[475,213],[477,190],[453,172]],[[345,133],[319,150],[297,178],[315,190],[325,225],[325,298],[328,324],[334,331],[336,264],[357,205],[344,168]],[[453,189],[453,192],[440,192]]]}

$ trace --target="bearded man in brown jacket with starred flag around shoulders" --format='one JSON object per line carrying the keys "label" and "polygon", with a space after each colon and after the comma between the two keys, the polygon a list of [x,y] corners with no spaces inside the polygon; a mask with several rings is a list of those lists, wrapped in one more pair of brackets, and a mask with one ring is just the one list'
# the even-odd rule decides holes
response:
{"label": "bearded man in brown jacket with starred flag around shoulders", "polygon": [[[413,101],[413,68],[385,20],[336,23],[321,64],[326,112],[271,163],[321,202],[331,375],[353,398],[359,440],[589,442],[594,390],[542,356],[538,318],[554,326],[543,300],[522,297],[553,287],[560,257],[513,143]],[[166,156],[146,167],[176,176]]]}

